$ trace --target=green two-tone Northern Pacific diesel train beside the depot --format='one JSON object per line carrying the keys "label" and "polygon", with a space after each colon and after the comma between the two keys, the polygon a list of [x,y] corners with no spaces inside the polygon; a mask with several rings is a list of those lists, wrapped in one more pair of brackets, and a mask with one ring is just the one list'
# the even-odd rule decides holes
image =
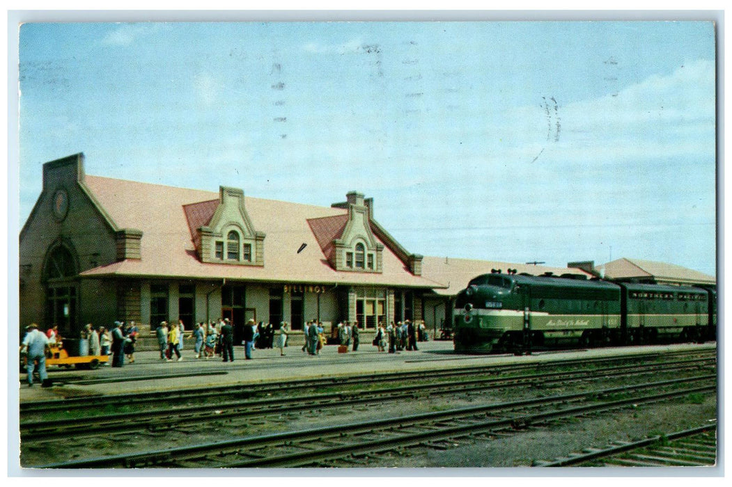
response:
{"label": "green two-tone Northern Pacific diesel train beside the depot", "polygon": [[514,352],[716,339],[716,292],[496,271],[455,300],[456,352]]}

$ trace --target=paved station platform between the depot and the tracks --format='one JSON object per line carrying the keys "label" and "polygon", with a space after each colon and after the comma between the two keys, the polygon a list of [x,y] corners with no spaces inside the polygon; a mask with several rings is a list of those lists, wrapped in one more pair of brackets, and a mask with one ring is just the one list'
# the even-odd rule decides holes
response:
{"label": "paved station platform between the depot and the tracks", "polygon": [[466,366],[490,364],[527,363],[541,360],[568,360],[582,357],[634,355],[668,350],[706,350],[716,344],[669,344],[647,347],[621,347],[580,349],[571,351],[534,352],[531,355],[462,355],[455,354],[452,341],[423,341],[417,344],[419,350],[402,350],[396,353],[378,352],[371,342],[359,344],[356,352],[352,347],[345,354],[337,352],[336,345],[326,345],[319,355],[308,355],[302,351],[302,344],[280,350],[255,349],[252,359],[244,359],[244,347],[234,347],[234,362],[223,363],[222,358],[208,360],[195,358],[193,347],[184,348],[183,360],[160,359],[160,352],[145,350],[135,352],[134,363],[125,360],[122,368],[102,366],[97,370],[59,369],[52,367],[48,377],[53,386],[42,388],[40,384],[29,387],[25,372],[20,373],[19,400],[38,401],[64,399],[81,396],[96,396],[120,393],[149,392],[153,390],[206,388],[213,385],[266,384],[281,380],[296,380],[341,375],[419,371],[430,369],[453,369]]}

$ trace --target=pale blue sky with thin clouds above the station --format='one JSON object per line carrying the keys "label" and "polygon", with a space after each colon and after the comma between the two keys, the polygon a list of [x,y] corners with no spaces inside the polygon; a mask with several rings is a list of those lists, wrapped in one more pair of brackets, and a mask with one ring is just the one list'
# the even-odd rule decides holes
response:
{"label": "pale blue sky with thin clouds above the station", "polygon": [[716,275],[714,24],[26,23],[20,225],[42,164],[329,206],[409,252]]}

